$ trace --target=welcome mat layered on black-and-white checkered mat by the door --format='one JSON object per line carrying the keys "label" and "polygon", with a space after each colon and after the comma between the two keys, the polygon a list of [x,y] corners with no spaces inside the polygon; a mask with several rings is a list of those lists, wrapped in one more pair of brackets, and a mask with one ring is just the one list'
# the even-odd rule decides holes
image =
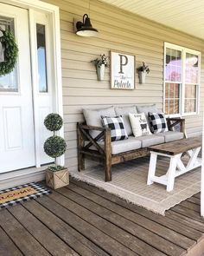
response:
{"label": "welcome mat layered on black-and-white checkered mat by the door", "polygon": [[0,191],[0,209],[15,206],[24,201],[33,200],[52,192],[39,183],[28,183]]}

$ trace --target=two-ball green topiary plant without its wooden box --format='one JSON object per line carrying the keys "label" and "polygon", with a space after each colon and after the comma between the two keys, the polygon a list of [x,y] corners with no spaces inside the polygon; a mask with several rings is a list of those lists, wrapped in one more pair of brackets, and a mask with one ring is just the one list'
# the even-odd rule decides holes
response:
{"label": "two-ball green topiary plant without its wooden box", "polygon": [[46,116],[44,120],[44,125],[48,130],[54,132],[54,135],[49,137],[44,143],[44,151],[48,156],[54,158],[54,166],[48,167],[51,171],[59,171],[64,169],[65,167],[61,167],[57,165],[57,157],[60,157],[62,154],[65,154],[67,145],[66,141],[61,137],[55,135],[56,131],[59,131],[63,125],[63,120],[61,115],[51,113]]}

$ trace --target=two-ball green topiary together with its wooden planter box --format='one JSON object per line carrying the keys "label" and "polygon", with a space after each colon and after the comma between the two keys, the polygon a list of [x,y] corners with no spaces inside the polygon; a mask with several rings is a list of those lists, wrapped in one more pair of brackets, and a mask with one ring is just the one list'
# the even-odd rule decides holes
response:
{"label": "two-ball green topiary together with its wooden planter box", "polygon": [[64,154],[67,148],[66,141],[61,136],[55,135],[63,125],[61,115],[49,114],[44,120],[44,125],[54,133],[44,143],[45,153],[54,158],[54,166],[50,166],[46,170],[46,183],[48,187],[54,189],[67,186],[69,183],[67,168],[57,165],[57,158]]}

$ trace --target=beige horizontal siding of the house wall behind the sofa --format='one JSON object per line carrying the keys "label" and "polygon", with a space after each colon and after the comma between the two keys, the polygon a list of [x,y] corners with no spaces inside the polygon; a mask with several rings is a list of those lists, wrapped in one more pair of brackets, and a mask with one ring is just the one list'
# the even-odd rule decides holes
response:
{"label": "beige horizontal siding of the house wall behind the sofa", "polygon": [[[83,121],[82,108],[110,105],[152,104],[163,109],[163,43],[175,43],[201,51],[201,105],[200,115],[187,116],[188,135],[201,133],[201,115],[204,96],[203,41],[140,16],[119,10],[99,1],[91,1],[92,25],[99,29],[99,36],[83,38],[73,32],[73,18],[82,20],[89,13],[85,0],[47,0],[61,9],[62,84],[67,140],[66,163],[77,167],[76,122]],[[97,81],[95,68],[90,62],[99,54],[109,55],[110,50],[136,56],[136,65],[142,61],[150,65],[151,72],[145,84],[138,84],[131,91],[110,89],[109,69],[105,81]]]}

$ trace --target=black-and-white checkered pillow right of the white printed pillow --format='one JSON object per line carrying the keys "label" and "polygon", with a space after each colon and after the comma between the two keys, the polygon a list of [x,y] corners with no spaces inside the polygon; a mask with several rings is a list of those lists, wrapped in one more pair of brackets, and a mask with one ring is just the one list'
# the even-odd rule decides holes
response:
{"label": "black-and-white checkered pillow right of the white printed pillow", "polygon": [[149,113],[150,128],[153,134],[167,132],[168,126],[165,115],[163,113]]}

